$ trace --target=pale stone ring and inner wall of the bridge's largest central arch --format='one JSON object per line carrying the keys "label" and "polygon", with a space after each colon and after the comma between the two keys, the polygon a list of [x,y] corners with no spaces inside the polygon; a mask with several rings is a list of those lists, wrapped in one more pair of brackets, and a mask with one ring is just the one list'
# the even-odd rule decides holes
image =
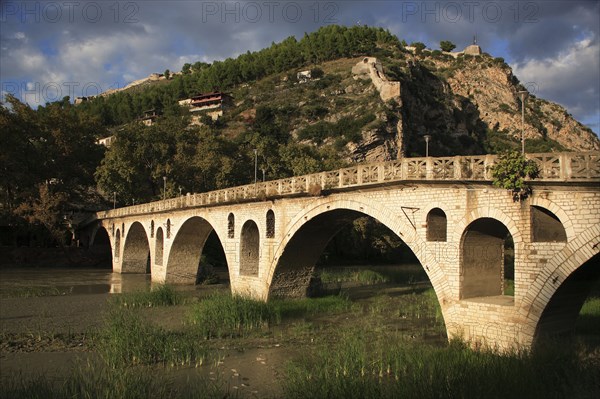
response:
{"label": "pale stone ring and inner wall of the bridge's largest central arch", "polygon": [[[284,291],[291,292],[293,296],[304,295],[314,264],[329,240],[346,223],[363,216],[372,217],[398,235],[423,265],[438,299],[444,303],[444,298],[449,295],[446,276],[437,260],[428,256],[426,241],[410,223],[372,201],[329,198],[312,202],[288,223],[267,272],[269,296],[277,296]],[[289,283],[286,283],[288,279],[296,280],[295,289],[290,289]]]}

